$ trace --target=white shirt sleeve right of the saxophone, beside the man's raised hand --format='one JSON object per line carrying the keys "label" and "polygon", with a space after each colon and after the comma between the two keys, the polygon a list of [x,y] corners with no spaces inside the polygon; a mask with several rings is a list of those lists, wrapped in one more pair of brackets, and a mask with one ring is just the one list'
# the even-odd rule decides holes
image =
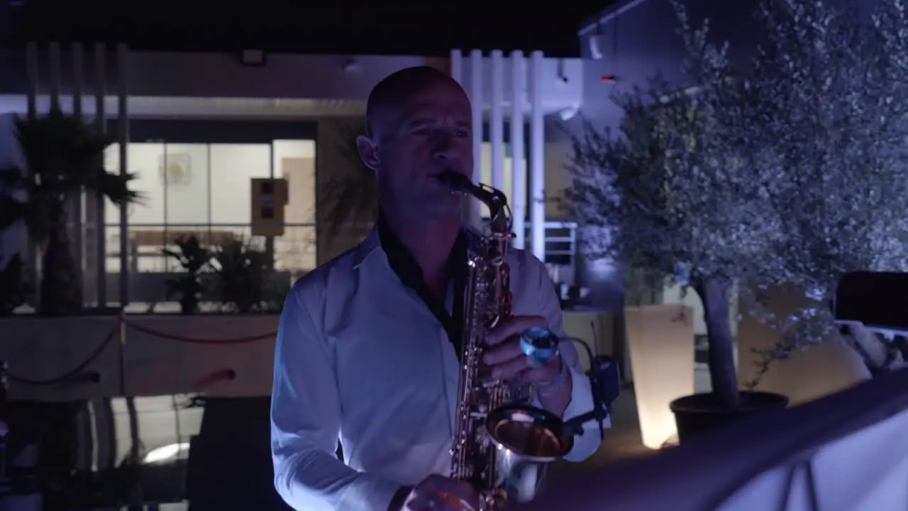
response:
{"label": "white shirt sleeve right of the saxophone, beside the man's raised hand", "polygon": [[[546,266],[541,261],[533,260],[538,267],[538,296],[540,301],[541,315],[546,318],[548,328],[556,336],[565,337],[564,317],[561,312],[561,302],[558,295],[555,294],[555,285],[548,276]],[[580,357],[577,356],[577,347],[573,343],[561,343],[558,347],[561,352],[561,363],[568,366],[571,376],[571,394],[568,407],[565,408],[563,418],[565,420],[586,414],[593,409],[593,393],[589,387],[589,379],[580,366]],[[538,405],[538,396],[534,396],[533,401]],[[606,426],[610,426],[608,423]],[[579,462],[593,456],[599,447],[601,439],[599,438],[599,427],[595,421],[589,421],[583,425],[584,434],[574,437],[574,448],[565,456],[568,461]]]}

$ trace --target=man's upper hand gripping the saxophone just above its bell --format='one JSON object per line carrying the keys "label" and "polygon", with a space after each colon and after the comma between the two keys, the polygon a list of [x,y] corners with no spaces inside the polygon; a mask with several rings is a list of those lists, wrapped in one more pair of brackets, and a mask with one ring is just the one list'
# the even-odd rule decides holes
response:
{"label": "man's upper hand gripping the saxophone just above its bell", "polygon": [[491,367],[493,378],[517,381],[537,388],[550,387],[539,391],[539,401],[549,412],[562,416],[570,403],[571,376],[566,371],[564,381],[561,378],[561,356],[553,356],[542,366],[531,367],[523,350],[520,349],[520,336],[530,328],[547,328],[545,318],[539,316],[514,316],[496,326],[486,337],[489,349],[483,361]]}

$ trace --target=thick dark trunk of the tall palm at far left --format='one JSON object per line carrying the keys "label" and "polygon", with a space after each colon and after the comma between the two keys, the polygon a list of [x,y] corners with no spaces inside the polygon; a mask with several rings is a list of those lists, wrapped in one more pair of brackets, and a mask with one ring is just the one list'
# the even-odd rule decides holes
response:
{"label": "thick dark trunk of the tall palm at far left", "polygon": [[48,201],[51,225],[48,225],[47,245],[41,276],[41,304],[44,316],[72,316],[82,310],[82,282],[75,266],[73,246],[66,228],[64,200]]}

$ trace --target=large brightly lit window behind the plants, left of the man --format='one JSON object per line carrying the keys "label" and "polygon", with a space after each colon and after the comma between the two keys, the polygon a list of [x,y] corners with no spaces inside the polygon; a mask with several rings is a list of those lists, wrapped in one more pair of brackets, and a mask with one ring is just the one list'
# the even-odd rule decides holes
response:
{"label": "large brightly lit window behind the plants, left of the man", "polygon": [[[143,195],[127,209],[125,265],[130,273],[133,304],[163,300],[167,274],[182,272],[163,249],[178,250],[180,235],[197,235],[214,248],[228,239],[251,238],[252,178],[283,177],[288,182],[284,235],[274,239],[274,266],[299,276],[316,266],[315,142],[276,140],[273,144],[133,143],[128,168],[136,175],[134,190]],[[119,146],[105,154],[105,167],[118,172]],[[105,266],[108,301],[119,299],[120,208],[105,204]],[[286,275],[284,274],[284,275]]]}

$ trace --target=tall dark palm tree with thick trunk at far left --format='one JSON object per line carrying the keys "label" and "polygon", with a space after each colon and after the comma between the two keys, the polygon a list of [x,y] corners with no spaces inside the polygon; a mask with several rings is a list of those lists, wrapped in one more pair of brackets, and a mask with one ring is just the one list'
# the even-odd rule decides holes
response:
{"label": "tall dark palm tree with thick trunk at far left", "polygon": [[59,109],[40,117],[15,119],[22,165],[0,172],[0,227],[24,220],[41,249],[38,313],[77,314],[83,307],[82,282],[67,229],[67,202],[83,191],[104,195],[114,204],[137,200],[129,188],[132,174],[104,169],[104,149],[113,139]]}

